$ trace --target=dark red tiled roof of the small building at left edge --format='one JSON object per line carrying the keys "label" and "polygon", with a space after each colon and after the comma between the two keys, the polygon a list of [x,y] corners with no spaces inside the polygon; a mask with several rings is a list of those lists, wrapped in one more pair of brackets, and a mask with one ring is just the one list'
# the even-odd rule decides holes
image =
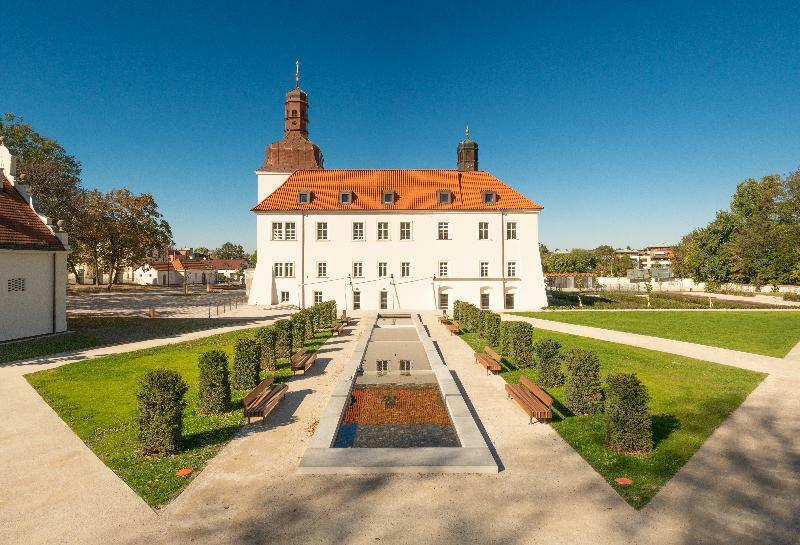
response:
{"label": "dark red tiled roof of the small building at left edge", "polygon": [[64,250],[61,241],[42,222],[5,176],[0,192],[0,249]]}

